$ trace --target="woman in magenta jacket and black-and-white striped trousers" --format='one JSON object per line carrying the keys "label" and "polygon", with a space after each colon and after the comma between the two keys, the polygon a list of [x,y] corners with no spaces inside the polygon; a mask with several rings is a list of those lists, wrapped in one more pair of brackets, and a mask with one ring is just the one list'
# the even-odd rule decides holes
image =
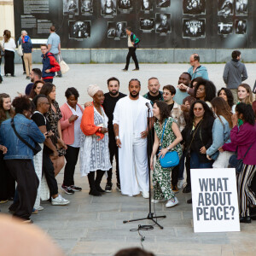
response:
{"label": "woman in magenta jacket and black-and-white striped trousers", "polygon": [[[239,125],[239,119],[242,120],[242,125]],[[236,113],[232,116],[232,123],[231,143],[224,144],[219,150],[236,151],[237,159],[242,159],[242,170],[237,174],[240,222],[251,223],[249,207],[256,207],[255,194],[250,188],[256,172],[256,126],[252,106],[242,102],[237,104]]]}

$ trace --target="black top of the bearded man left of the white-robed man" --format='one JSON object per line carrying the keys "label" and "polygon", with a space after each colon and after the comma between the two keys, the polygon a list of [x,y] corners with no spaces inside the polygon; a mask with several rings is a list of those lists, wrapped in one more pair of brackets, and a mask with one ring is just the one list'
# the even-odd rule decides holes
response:
{"label": "black top of the bearded man left of the white-robed man", "polygon": [[105,100],[103,103],[103,108],[105,110],[105,113],[108,116],[108,132],[113,135],[113,110],[115,107],[116,102],[119,101],[119,99],[125,97],[126,95],[119,92],[119,96],[113,97],[110,96],[109,92],[104,94]]}

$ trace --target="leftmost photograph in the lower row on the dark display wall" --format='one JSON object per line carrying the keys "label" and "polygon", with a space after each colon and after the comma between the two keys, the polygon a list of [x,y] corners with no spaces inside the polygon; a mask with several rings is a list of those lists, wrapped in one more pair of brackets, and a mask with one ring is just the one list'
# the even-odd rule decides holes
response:
{"label": "leftmost photograph in the lower row on the dark display wall", "polygon": [[90,38],[90,20],[68,21],[69,38],[83,39]]}

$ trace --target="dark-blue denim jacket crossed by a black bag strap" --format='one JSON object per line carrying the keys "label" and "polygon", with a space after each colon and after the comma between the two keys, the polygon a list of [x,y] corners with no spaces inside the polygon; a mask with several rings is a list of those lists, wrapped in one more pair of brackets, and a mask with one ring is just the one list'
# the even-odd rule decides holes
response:
{"label": "dark-blue denim jacket crossed by a black bag strap", "polygon": [[[35,147],[36,143],[44,143],[44,134],[38,129],[32,120],[26,119],[23,114],[17,113],[15,115],[15,128],[27,143]],[[8,151],[4,154],[4,160],[10,159],[31,159],[33,152],[26,144],[22,143],[15,135],[15,131],[11,126],[11,119],[4,121],[0,129],[0,144],[4,145]]]}

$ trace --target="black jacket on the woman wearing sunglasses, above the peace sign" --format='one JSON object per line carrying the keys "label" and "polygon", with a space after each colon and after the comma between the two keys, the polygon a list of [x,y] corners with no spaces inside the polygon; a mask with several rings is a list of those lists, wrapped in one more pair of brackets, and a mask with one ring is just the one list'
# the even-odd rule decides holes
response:
{"label": "black jacket on the woman wearing sunglasses, above the peace sign", "polygon": [[[192,141],[194,131],[192,131],[192,126],[187,124],[185,128],[182,131],[183,135],[183,143],[186,145],[187,153],[194,151],[199,155],[199,160],[201,163],[207,163],[209,160],[207,160],[207,154],[201,154],[200,149],[201,147],[205,146],[207,149],[211,147],[212,145],[212,126],[214,123],[214,118],[209,117],[208,119],[203,119],[201,121],[201,125],[198,127],[196,125],[196,130],[194,140]],[[191,143],[192,141],[192,143]],[[189,148],[189,145],[191,143],[191,146]]]}

